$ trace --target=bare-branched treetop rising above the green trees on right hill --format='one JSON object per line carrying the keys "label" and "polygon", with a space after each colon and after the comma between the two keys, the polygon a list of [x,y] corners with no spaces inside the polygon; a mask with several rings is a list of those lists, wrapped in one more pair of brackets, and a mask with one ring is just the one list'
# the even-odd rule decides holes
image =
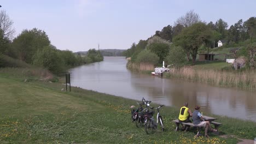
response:
{"label": "bare-branched treetop rising above the green trees on right hill", "polygon": [[184,16],[179,17],[176,22],[174,22],[174,25],[177,26],[180,24],[184,27],[190,27],[198,22],[201,22],[199,14],[196,14],[194,10],[190,10]]}

